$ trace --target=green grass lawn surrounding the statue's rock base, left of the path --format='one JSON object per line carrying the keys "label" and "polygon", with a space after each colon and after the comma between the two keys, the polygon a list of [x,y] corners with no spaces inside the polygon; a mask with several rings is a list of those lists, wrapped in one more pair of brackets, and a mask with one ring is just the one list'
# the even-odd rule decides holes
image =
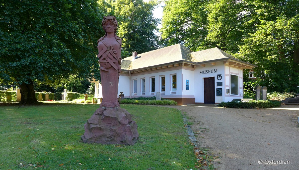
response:
{"label": "green grass lawn surrounding the statue's rock base, left of the path", "polygon": [[139,139],[134,146],[82,143],[83,125],[98,107],[62,103],[0,106],[0,169],[194,168],[196,157],[180,111],[121,105],[138,125]]}

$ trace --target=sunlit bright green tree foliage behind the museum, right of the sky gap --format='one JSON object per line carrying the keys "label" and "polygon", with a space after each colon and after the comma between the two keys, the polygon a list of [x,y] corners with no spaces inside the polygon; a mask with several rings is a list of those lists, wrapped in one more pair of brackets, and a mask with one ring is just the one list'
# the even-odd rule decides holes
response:
{"label": "sunlit bright green tree foliage behind the museum, right of the sky gap", "polygon": [[167,0],[162,38],[192,50],[218,47],[258,65],[270,91],[299,91],[298,7],[298,0]]}

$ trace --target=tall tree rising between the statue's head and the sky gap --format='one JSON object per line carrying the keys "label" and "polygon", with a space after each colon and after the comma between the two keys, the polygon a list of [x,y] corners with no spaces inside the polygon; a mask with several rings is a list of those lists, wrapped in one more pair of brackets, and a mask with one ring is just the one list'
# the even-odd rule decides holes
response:
{"label": "tall tree rising between the statue's head and the sky gap", "polygon": [[[156,0],[111,0],[110,14],[118,17],[118,36],[122,39],[122,57],[132,55],[133,51],[144,53],[158,48],[159,19],[155,19],[153,9]],[[108,7],[109,8],[109,7]]]}

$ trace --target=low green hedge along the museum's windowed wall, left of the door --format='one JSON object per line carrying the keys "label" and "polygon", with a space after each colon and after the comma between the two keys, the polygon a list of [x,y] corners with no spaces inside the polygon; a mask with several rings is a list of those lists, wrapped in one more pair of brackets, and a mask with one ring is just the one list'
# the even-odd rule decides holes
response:
{"label": "low green hedge along the museum's windowed wall, left of the door", "polygon": [[177,105],[174,100],[136,100],[136,99],[123,99],[120,104],[135,104],[135,105]]}

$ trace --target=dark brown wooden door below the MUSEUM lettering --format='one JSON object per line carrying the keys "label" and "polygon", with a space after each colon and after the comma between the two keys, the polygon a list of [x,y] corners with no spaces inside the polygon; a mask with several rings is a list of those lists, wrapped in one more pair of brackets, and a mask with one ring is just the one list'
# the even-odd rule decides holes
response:
{"label": "dark brown wooden door below the MUSEUM lettering", "polygon": [[204,78],[204,102],[205,104],[215,104],[215,78]]}

